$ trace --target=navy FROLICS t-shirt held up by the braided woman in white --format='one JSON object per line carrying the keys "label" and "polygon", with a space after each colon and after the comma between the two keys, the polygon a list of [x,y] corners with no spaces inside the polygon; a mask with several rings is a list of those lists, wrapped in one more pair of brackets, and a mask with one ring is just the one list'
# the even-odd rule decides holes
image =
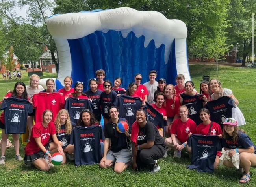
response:
{"label": "navy FROLICS t-shirt held up by the braided woman in white", "polygon": [[204,107],[210,111],[211,120],[221,125],[223,129],[226,118],[232,118],[232,108],[235,105],[229,97],[223,96],[217,100],[208,101]]}

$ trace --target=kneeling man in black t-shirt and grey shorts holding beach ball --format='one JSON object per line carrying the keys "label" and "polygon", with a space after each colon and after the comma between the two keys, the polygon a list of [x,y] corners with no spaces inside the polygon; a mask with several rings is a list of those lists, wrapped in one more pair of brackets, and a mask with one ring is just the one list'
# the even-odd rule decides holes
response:
{"label": "kneeling man in black t-shirt and grey shorts holding beach ball", "polygon": [[[132,161],[132,147],[130,145],[130,132],[128,129],[125,133],[118,133],[116,126],[119,121],[124,121],[124,118],[119,118],[117,107],[108,108],[108,114],[111,121],[105,125],[105,142],[104,155],[100,161],[101,168],[108,168],[114,165],[114,171],[121,173],[128,167]],[[111,149],[108,150],[111,142]]]}

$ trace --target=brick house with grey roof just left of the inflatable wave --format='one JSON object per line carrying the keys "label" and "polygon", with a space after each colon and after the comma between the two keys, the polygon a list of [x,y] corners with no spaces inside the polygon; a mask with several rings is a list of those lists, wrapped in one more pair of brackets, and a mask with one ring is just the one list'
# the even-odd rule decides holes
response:
{"label": "brick house with grey roof just left of the inflatable wave", "polygon": [[[57,53],[54,52],[55,59],[58,60]],[[47,47],[44,47],[44,53],[40,56],[40,67],[42,71],[49,73],[57,73],[54,62],[52,61],[52,55]]]}

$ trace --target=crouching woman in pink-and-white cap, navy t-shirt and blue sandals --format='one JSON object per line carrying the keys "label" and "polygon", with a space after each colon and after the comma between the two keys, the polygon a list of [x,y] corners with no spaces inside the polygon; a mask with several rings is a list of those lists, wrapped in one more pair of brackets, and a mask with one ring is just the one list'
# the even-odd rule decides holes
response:
{"label": "crouching woman in pink-and-white cap, navy t-shirt and blue sandals", "polygon": [[[252,143],[250,137],[245,131],[237,127],[237,121],[234,118],[226,118],[223,123],[224,129],[222,133],[222,145],[225,150],[231,149],[228,156],[232,157],[235,153],[239,153],[239,166],[243,167],[243,176],[239,183],[247,183],[250,180],[250,167],[256,166],[256,146]],[[233,167],[232,162],[226,160],[224,165]]]}

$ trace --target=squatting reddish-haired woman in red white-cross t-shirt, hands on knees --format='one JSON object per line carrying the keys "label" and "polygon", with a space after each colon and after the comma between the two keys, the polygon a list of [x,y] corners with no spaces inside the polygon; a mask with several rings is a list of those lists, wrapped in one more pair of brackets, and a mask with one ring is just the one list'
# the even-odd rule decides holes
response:
{"label": "squatting reddish-haired woman in red white-cross t-shirt, hands on knees", "polygon": [[[180,158],[181,151],[187,145],[188,134],[196,132],[196,123],[188,118],[188,109],[185,105],[179,108],[180,118],[173,121],[170,134],[171,138],[166,138],[165,143],[174,149],[173,157]],[[177,135],[177,136],[176,136]]]}

